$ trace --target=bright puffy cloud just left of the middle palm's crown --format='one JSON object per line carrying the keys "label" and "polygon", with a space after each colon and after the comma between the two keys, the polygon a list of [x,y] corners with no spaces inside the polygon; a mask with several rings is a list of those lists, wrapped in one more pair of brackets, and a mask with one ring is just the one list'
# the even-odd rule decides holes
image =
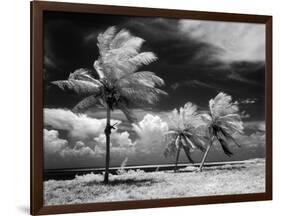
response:
{"label": "bright puffy cloud just left of the middle palm's crown", "polygon": [[147,114],[138,123],[133,124],[133,130],[136,132],[138,139],[135,141],[137,152],[155,153],[163,148],[164,134],[168,131],[168,124],[159,116]]}

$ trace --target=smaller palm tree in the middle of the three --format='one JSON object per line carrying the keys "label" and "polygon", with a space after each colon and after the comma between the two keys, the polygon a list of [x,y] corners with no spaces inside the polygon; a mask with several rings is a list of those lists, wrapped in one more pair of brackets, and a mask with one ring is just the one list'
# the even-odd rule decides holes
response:
{"label": "smaller palm tree in the middle of the three", "polygon": [[164,156],[176,157],[175,172],[181,149],[184,150],[191,163],[194,163],[190,156],[191,149],[198,148],[205,151],[204,134],[198,130],[201,126],[203,126],[203,122],[197,112],[197,106],[192,103],[186,103],[179,110],[174,109],[169,115],[169,131],[165,134],[167,146]]}

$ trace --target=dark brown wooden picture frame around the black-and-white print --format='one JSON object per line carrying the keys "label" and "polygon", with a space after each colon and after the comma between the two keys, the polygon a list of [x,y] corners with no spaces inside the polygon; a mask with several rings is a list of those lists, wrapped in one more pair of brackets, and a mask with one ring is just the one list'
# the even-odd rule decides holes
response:
{"label": "dark brown wooden picture frame around the black-and-white print", "polygon": [[[266,192],[158,200],[43,206],[43,12],[61,11],[266,24]],[[272,16],[33,1],[31,17],[30,214],[61,214],[272,200]]]}

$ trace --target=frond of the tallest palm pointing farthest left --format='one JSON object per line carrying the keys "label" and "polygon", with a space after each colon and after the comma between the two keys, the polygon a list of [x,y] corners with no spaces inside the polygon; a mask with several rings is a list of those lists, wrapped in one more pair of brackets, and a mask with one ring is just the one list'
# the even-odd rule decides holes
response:
{"label": "frond of the tallest palm pointing farthest left", "polygon": [[100,93],[100,86],[85,80],[58,80],[53,81],[52,84],[62,90],[72,90],[79,95],[96,95]]}

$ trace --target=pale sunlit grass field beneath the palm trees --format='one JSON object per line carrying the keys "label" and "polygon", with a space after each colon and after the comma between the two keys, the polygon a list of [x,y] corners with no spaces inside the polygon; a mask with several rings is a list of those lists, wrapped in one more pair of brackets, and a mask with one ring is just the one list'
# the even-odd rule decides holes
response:
{"label": "pale sunlit grass field beneath the palm trees", "polygon": [[44,182],[45,205],[259,193],[265,191],[265,161],[223,165],[195,172],[194,167],[160,172],[128,171],[102,183],[100,174]]}

